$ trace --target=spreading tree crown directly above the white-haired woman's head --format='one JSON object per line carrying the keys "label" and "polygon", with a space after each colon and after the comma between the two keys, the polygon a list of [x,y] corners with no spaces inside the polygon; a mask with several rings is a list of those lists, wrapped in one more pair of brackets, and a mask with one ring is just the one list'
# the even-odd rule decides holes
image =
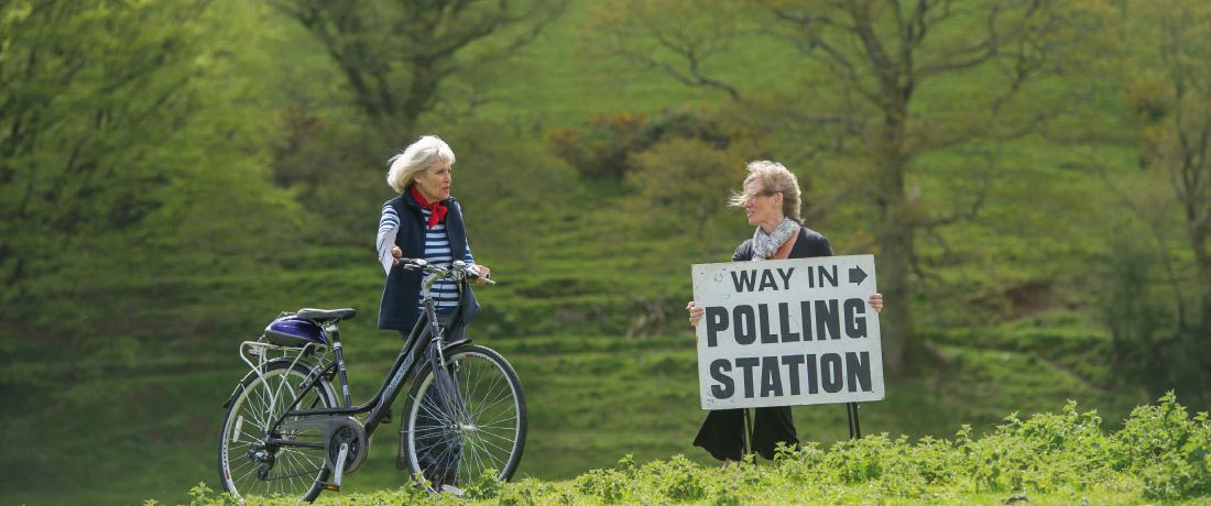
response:
{"label": "spreading tree crown directly above the white-haired woman's head", "polygon": [[[352,102],[413,137],[444,81],[532,41],[567,0],[275,0],[340,69]],[[394,132],[397,133],[397,132]]]}

